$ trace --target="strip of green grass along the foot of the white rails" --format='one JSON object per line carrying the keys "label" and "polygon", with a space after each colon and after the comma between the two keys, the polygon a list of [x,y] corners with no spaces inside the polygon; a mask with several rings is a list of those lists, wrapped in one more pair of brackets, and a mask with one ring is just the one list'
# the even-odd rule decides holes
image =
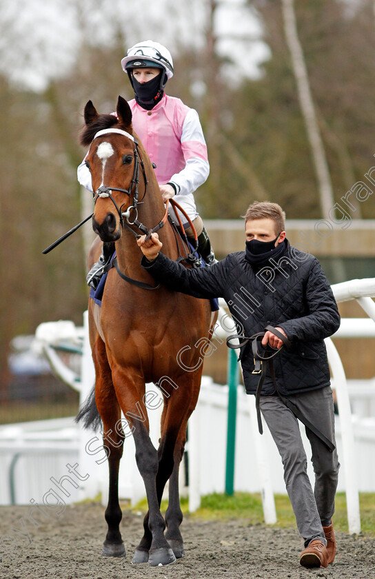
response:
{"label": "strip of green grass along the foot of the white rails", "polygon": [[[375,494],[360,494],[361,527],[363,533],[375,535]],[[277,522],[274,527],[295,527],[296,520],[287,495],[275,495]],[[161,502],[162,513],[168,507],[168,502]],[[148,509],[147,500],[141,500],[132,511],[146,512]],[[234,493],[233,496],[227,494],[213,493],[203,496],[201,507],[192,514],[189,514],[189,502],[187,498],[181,498],[181,509],[184,515],[203,520],[245,520],[252,525],[264,523],[263,507],[260,494]],[[347,527],[347,507],[345,493],[336,494],[336,511],[334,514],[334,527],[336,531],[348,532]]]}

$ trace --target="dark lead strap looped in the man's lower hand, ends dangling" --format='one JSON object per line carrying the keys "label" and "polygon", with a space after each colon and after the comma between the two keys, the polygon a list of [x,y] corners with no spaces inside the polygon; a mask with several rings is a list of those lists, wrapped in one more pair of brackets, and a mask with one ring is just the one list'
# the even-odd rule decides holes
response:
{"label": "dark lead strap looped in the man's lower hand, ends dangling", "polygon": [[[259,342],[261,342],[263,340],[265,332],[267,332],[267,331],[272,332],[272,334],[275,334],[275,336],[280,338],[281,341],[283,341],[283,345],[280,348],[276,349],[268,344],[267,347],[265,348],[264,354],[262,355],[259,352],[258,346],[259,346]],[[290,411],[294,414],[294,416],[296,416],[296,418],[298,418],[298,420],[301,420],[301,423],[303,423],[303,425],[305,425],[305,427],[307,427],[312,432],[314,432],[314,434],[316,436],[318,436],[318,438],[320,438],[320,440],[325,444],[325,446],[331,452],[334,451],[335,446],[332,443],[332,441],[329,438],[327,438],[327,436],[325,436],[325,434],[323,434],[323,432],[321,432],[318,428],[316,428],[316,426],[314,426],[310,422],[310,420],[308,420],[302,414],[301,410],[298,409],[298,407],[296,407],[296,405],[294,403],[292,403],[291,400],[289,400],[286,396],[283,396],[282,394],[280,394],[280,392],[278,392],[278,387],[276,384],[276,376],[275,376],[275,372],[274,372],[273,358],[275,358],[275,356],[278,356],[278,354],[281,354],[284,346],[287,349],[289,349],[291,344],[290,344],[290,341],[287,338],[285,338],[285,336],[283,334],[281,334],[281,332],[279,332],[278,329],[276,329],[275,327],[272,327],[272,325],[267,325],[265,327],[265,332],[259,332],[258,334],[254,334],[253,336],[250,336],[250,337],[241,336],[239,334],[234,334],[232,336],[227,337],[227,347],[230,347],[233,349],[241,348],[241,354],[240,354],[239,360],[243,356],[243,352],[245,350],[246,345],[248,343],[251,344],[252,356],[254,358],[254,370],[252,371],[252,374],[260,374],[259,382],[258,382],[258,385],[256,386],[256,394],[255,394],[256,418],[258,420],[259,432],[261,434],[263,434],[261,409],[260,409],[259,403],[261,400],[261,392],[262,392],[263,383],[265,380],[265,376],[267,374],[267,367],[270,367],[270,374],[271,374],[272,382],[274,383],[274,388],[276,390],[276,394],[282,400],[283,404],[285,404],[285,406],[290,409]],[[234,338],[237,338],[239,340],[239,344],[231,344],[230,343],[230,340],[234,340]]]}

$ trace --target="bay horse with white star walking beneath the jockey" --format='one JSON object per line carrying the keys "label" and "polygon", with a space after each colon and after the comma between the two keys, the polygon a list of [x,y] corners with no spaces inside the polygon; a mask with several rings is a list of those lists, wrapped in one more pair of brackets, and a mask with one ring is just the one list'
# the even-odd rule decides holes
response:
{"label": "bay horse with white star walking beneath the jockey", "polygon": [[[108,532],[102,555],[125,556],[118,494],[124,440],[122,411],[133,431],[136,464],[148,499],[144,534],[132,562],[168,565],[184,556],[179,529],[183,518],[179,464],[187,420],[196,406],[201,384],[202,346],[194,345],[201,345],[202,338],[209,344],[212,313],[207,300],[172,292],[163,285],[155,287],[153,278],[141,267],[142,254],[136,244],[139,228],[145,232],[158,223],[161,227],[165,205],[152,163],[132,129],[128,102],[119,96],[114,115],[98,114],[88,101],[84,119],[81,144],[90,145],[85,162],[94,191],[92,226],[101,241],[115,242],[117,260],[117,270],[108,272],[101,307],[89,300],[96,379],[94,396],[77,416],[88,427],[99,412],[103,423],[109,496],[105,510]],[[168,221],[159,229],[159,238],[163,253],[174,260],[178,258],[179,247]],[[185,368],[177,359],[182,348]],[[186,371],[186,367],[192,371]],[[149,436],[146,383],[159,385],[163,394],[157,451]],[[160,503],[168,480],[169,502],[164,519]]]}

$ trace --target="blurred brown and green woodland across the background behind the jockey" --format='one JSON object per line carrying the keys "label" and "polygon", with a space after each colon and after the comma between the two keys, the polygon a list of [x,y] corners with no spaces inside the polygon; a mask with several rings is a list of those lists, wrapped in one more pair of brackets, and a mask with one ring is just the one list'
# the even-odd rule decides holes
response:
{"label": "blurred brown and green woodland across the background behind the jockey", "polygon": [[[285,39],[282,3],[248,0],[263,22],[271,57],[258,78],[238,77],[234,82],[227,74],[234,67],[234,55],[218,54],[219,1],[206,0],[203,12],[203,3],[194,3],[194,22],[201,26],[204,21],[205,37],[188,21],[190,6],[184,5],[185,21],[176,27],[181,33],[179,50],[171,47],[175,75],[168,92],[199,111],[207,139],[211,174],[196,192],[199,211],[205,219],[236,219],[254,199],[270,199],[281,203],[290,218],[319,219],[316,172]],[[120,61],[125,47],[143,37],[143,21],[121,20],[120,4],[69,3],[82,32],[74,44],[75,64],[55,75],[45,90],[14,88],[0,76],[1,372],[12,336],[32,333],[42,321],[69,318],[81,323],[88,296],[81,234],[48,256],[41,251],[92,207],[90,193],[82,196],[76,174],[85,154],[78,144],[85,103],[92,99],[100,112],[111,112],[118,94],[133,96]],[[179,5],[168,0],[167,6],[175,18]],[[373,163],[373,6],[371,0],[356,3],[352,10],[341,0],[294,4],[336,201],[364,179]],[[23,13],[13,12],[5,4],[0,9],[0,61],[15,64],[23,54],[24,70],[30,72],[33,61],[19,28]],[[163,21],[163,11],[159,17]],[[166,23],[159,27],[158,20],[154,28],[154,37],[162,42],[163,26]],[[196,43],[183,41],[190,37]],[[67,47],[64,39],[64,50]],[[48,51],[43,44],[42,48],[37,54],[43,68]],[[374,215],[374,198],[361,203],[364,217]],[[88,202],[84,208],[83,199]],[[90,232],[90,224],[85,228]]]}

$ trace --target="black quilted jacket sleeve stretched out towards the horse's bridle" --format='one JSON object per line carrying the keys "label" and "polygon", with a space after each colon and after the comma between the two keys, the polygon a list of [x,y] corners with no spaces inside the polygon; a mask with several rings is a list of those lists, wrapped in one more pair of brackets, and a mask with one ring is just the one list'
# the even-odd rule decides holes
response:
{"label": "black quilted jacket sleeve stretched out towards the horse's bridle", "polygon": [[144,256],[141,265],[154,279],[170,290],[182,292],[195,298],[219,298],[223,296],[225,287],[225,261],[219,261],[211,267],[199,267],[187,270],[181,263],[159,253],[152,262]]}

